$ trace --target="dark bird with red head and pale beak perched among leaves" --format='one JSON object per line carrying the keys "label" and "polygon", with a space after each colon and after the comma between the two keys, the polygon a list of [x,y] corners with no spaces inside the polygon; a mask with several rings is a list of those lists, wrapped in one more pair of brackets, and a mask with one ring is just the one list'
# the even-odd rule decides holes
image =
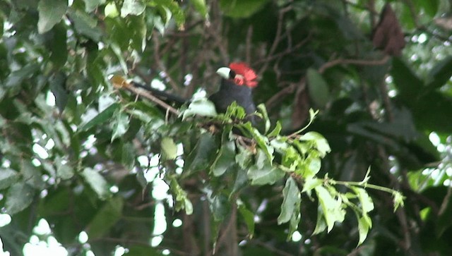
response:
{"label": "dark bird with red head and pale beak perched among leaves", "polygon": [[253,101],[252,89],[257,86],[256,72],[246,63],[233,62],[229,67],[218,68],[217,74],[222,78],[220,90],[208,99],[215,104],[218,113],[225,113],[232,102],[242,106],[247,115],[253,118],[256,105]]}

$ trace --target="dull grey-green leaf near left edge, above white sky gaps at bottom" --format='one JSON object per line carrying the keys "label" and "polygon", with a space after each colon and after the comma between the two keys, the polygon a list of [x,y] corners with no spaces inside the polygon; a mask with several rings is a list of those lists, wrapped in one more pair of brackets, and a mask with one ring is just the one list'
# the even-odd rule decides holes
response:
{"label": "dull grey-green leaf near left edge, above white sky gaps at bottom", "polygon": [[13,215],[27,208],[34,196],[35,190],[24,182],[11,185],[6,194],[6,213]]}

